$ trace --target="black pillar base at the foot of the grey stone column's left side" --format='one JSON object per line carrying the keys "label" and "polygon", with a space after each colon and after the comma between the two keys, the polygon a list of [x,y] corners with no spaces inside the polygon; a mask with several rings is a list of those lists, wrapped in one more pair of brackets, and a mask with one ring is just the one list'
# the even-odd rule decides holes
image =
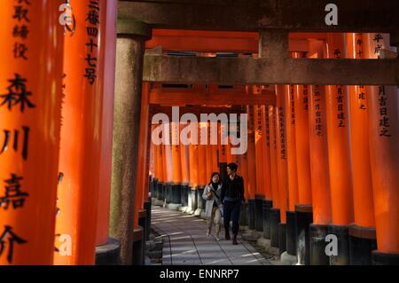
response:
{"label": "black pillar base at the foot of the grey stone column's left side", "polygon": [[121,264],[121,245],[118,240],[108,239],[105,245],[96,247],[96,265]]}

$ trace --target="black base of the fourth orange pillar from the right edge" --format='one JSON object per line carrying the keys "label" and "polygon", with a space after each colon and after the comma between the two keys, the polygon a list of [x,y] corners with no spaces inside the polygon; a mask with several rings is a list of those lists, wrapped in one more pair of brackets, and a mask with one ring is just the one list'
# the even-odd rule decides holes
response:
{"label": "black base of the fourth orange pillar from the right edge", "polygon": [[328,225],[310,224],[310,265],[330,265],[330,257],[325,254],[325,237],[328,235]]}

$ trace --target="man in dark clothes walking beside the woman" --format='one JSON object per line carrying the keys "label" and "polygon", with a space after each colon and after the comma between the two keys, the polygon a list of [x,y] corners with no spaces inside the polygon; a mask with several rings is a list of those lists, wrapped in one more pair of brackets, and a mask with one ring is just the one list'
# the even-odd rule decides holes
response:
{"label": "man in dark clothes walking beside the woman", "polygon": [[236,163],[227,165],[227,177],[224,179],[221,192],[223,202],[224,231],[225,239],[230,240],[230,220],[232,220],[232,244],[237,245],[237,235],[239,233],[239,212],[241,204],[246,199],[244,197],[244,179],[237,175],[238,166]]}

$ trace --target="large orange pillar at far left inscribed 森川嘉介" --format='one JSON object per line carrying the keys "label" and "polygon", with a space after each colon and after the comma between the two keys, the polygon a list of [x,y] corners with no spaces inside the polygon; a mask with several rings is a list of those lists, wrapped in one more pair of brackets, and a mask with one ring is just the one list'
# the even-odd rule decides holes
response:
{"label": "large orange pillar at far left inscribed \u68ee\u5ddd\u5609\u4ecb", "polygon": [[[53,260],[64,45],[60,4],[4,1],[0,9],[0,265]],[[70,241],[66,245],[70,251]]]}

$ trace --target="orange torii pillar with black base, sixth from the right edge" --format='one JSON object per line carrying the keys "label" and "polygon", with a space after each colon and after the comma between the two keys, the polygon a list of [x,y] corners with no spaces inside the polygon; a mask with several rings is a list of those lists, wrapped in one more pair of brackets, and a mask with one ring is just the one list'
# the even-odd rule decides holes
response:
{"label": "orange torii pillar with black base, sixth from the right edge", "polygon": [[[293,52],[293,57],[296,53]],[[286,253],[296,255],[295,205],[298,203],[298,174],[295,147],[295,97],[297,85],[286,85],[286,149],[288,174],[288,209],[286,211]]]}

